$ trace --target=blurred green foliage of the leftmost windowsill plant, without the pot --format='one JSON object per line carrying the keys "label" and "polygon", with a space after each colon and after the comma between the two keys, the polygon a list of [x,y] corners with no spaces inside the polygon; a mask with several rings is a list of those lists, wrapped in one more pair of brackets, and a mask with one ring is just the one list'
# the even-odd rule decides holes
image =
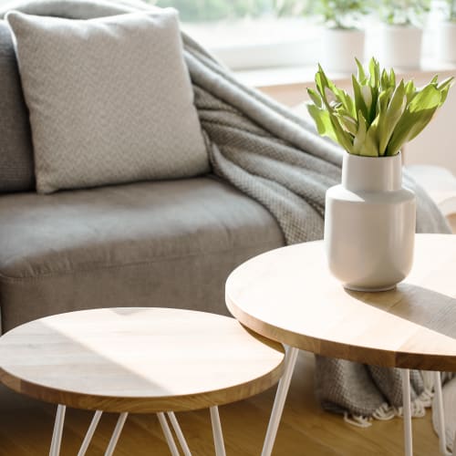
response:
{"label": "blurred green foliage of the leftmost windowsill plant, without the pot", "polygon": [[331,28],[356,28],[359,18],[368,14],[371,0],[318,0],[312,12],[323,16]]}

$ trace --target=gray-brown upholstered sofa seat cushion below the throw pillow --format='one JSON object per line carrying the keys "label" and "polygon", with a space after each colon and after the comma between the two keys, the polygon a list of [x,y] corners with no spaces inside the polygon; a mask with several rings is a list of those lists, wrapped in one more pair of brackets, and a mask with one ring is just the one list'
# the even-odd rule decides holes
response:
{"label": "gray-brown upholstered sofa seat cushion below the throw pillow", "polygon": [[284,244],[272,215],[212,177],[0,198],[4,330],[102,306],[226,313],[224,281]]}

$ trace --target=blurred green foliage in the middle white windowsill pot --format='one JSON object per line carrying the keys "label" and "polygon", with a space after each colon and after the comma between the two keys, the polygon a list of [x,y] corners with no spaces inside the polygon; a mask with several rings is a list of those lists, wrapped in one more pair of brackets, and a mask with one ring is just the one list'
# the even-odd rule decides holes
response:
{"label": "blurred green foliage in the middle white windowsill pot", "polygon": [[421,26],[423,16],[430,10],[430,0],[381,0],[380,20],[389,26]]}

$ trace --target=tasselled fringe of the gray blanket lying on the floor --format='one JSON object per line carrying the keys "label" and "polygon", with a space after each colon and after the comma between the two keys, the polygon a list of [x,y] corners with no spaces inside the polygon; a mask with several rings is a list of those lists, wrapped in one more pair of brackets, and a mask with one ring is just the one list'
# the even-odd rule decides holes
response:
{"label": "tasselled fringe of the gray blanket lying on the floor", "polygon": [[[411,416],[412,418],[422,418],[426,415],[426,409],[430,408],[434,392],[426,387],[420,396],[411,401]],[[363,415],[354,415],[353,413],[344,413],[344,421],[358,428],[368,428],[372,426],[372,420],[388,421],[395,417],[403,417],[402,407],[393,407],[387,402],[383,402],[378,409],[374,410],[372,417]]]}

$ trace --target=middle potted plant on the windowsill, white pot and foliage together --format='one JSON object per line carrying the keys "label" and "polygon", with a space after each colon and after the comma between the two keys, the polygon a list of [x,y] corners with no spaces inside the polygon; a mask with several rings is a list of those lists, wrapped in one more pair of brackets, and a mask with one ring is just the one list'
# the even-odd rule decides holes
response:
{"label": "middle potted plant on the windowsill, white pot and foliage together", "polygon": [[430,0],[380,0],[378,56],[385,67],[418,68],[422,24]]}

